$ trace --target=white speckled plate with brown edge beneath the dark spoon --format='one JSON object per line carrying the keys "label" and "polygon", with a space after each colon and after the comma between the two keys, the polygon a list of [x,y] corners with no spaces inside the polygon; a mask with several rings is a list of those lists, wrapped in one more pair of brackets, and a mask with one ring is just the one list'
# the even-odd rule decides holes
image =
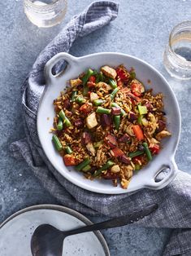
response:
{"label": "white speckled plate with brown edge beneath the dark spoon", "polygon": [[[30,241],[35,228],[49,223],[60,230],[92,224],[75,210],[59,205],[36,205],[13,214],[0,226],[1,256],[32,256]],[[110,256],[101,232],[68,236],[63,243],[64,256]]]}

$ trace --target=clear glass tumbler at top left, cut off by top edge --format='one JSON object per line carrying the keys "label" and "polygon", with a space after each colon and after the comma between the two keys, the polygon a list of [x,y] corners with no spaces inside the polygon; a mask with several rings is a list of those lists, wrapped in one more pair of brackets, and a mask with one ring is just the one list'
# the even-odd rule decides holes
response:
{"label": "clear glass tumbler at top left, cut off by top edge", "polygon": [[59,24],[67,11],[67,0],[24,0],[24,12],[33,24],[47,28]]}

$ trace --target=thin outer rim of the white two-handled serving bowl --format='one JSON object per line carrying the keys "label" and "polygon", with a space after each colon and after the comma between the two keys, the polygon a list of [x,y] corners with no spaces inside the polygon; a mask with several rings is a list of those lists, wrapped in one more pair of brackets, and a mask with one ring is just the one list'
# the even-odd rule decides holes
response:
{"label": "thin outer rim of the white two-handled serving bowl", "polygon": [[[174,171],[174,174],[171,176],[171,180],[175,178],[176,176],[176,173],[177,173],[177,166],[176,166],[176,163],[174,161],[174,157],[175,157],[175,153],[176,153],[176,149],[178,147],[178,143],[179,143],[179,140],[180,140],[180,128],[181,128],[181,117],[180,117],[180,108],[179,108],[179,104],[178,104],[178,101],[176,99],[176,95],[174,94],[173,90],[171,89],[171,86],[169,85],[169,83],[167,82],[166,78],[163,77],[163,75],[158,72],[158,70],[156,68],[154,68],[152,65],[150,65],[149,63],[145,62],[145,60],[141,60],[135,56],[132,56],[132,55],[127,55],[127,54],[123,54],[123,53],[119,53],[119,52],[99,52],[99,53],[93,53],[93,54],[90,54],[90,55],[84,55],[84,56],[80,56],[80,57],[75,57],[73,55],[70,55],[70,54],[67,54],[67,53],[59,53],[57,55],[54,55],[54,57],[52,59],[55,58],[55,56],[58,56],[58,55],[64,55],[65,57],[68,57],[69,59],[71,58],[72,61],[75,63],[79,63],[81,60],[85,61],[85,59],[89,59],[91,57],[97,57],[99,55],[115,55],[115,56],[123,56],[125,58],[130,58],[130,59],[133,59],[133,60],[136,60],[139,64],[143,64],[145,65],[147,68],[150,69],[150,72],[153,72],[155,73],[155,75],[157,77],[159,77],[162,81],[163,81],[163,84],[165,84],[165,86],[168,88],[168,90],[170,90],[170,94],[171,94],[171,97],[173,98],[174,100],[174,104],[176,106],[176,113],[177,113],[177,123],[178,123],[178,126],[177,126],[177,136],[176,138],[174,137],[174,147],[173,149],[171,150],[171,154],[170,154],[170,157],[168,157],[169,159],[169,162],[171,162],[171,166],[172,168],[175,170]],[[50,59],[47,63],[46,63],[46,66],[45,66],[45,76],[46,76],[46,82],[47,84],[50,83],[50,76],[52,76],[52,78],[54,79],[57,79],[57,77],[62,77],[62,73],[59,73],[58,75],[52,75],[52,73],[50,74],[50,66],[51,68],[53,67],[52,65],[52,59]],[[64,58],[63,58],[64,59]],[[65,59],[67,60],[67,58]],[[48,86],[46,86],[46,89],[48,88]],[[46,89],[44,90],[43,92],[43,95],[46,93]],[[39,135],[39,129],[38,129],[38,113],[39,113],[39,109],[40,109],[40,106],[41,106],[41,101],[43,99],[43,95],[41,95],[41,100],[40,100],[40,103],[39,103],[39,106],[38,106],[38,111],[37,111],[37,134],[38,134],[38,137],[40,139],[40,135]],[[40,143],[41,143],[41,139],[40,139]],[[45,151],[45,148],[43,147],[43,143],[41,143],[41,147],[44,149],[44,152],[46,153]],[[48,159],[50,160],[50,157],[46,154],[46,157],[48,157]],[[50,161],[51,162],[51,161]],[[52,162],[51,162],[52,163]],[[52,163],[53,164],[53,163]],[[145,186],[137,186],[137,188],[134,188],[134,189],[121,189],[120,192],[119,191],[115,191],[115,187],[112,187],[111,186],[111,189],[108,191],[108,190],[104,190],[103,188],[98,188],[98,190],[95,190],[94,188],[92,188],[89,184],[85,184],[83,181],[80,181],[80,180],[76,180],[74,181],[74,178],[72,178],[72,175],[68,176],[67,174],[63,174],[63,171],[61,172],[61,170],[59,170],[59,168],[57,168],[54,164],[53,164],[54,168],[59,171],[60,174],[63,175],[63,177],[65,179],[67,179],[68,181],[70,181],[71,183],[73,183],[74,185],[80,187],[80,188],[84,188],[90,192],[97,192],[97,193],[105,193],[105,194],[123,194],[123,193],[127,193],[127,192],[136,192],[137,190],[141,189],[141,188],[152,188],[152,189],[161,189],[161,188],[164,188],[168,183],[171,182],[171,180],[169,180],[168,182],[166,181],[166,183],[163,183],[163,185],[160,186],[160,184],[158,184],[158,186],[152,186],[152,184],[147,184]],[[67,167],[66,167],[67,168]],[[68,170],[68,168],[67,168]]]}

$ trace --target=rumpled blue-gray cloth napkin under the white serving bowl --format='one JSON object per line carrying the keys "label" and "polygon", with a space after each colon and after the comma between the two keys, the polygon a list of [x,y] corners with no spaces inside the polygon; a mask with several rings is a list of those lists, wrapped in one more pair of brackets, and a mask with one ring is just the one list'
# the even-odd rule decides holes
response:
{"label": "rumpled blue-gray cloth napkin under the white serving bowl", "polygon": [[[72,42],[114,20],[115,2],[93,2],[76,15],[37,58],[22,86],[22,111],[26,138],[11,144],[16,158],[24,158],[43,186],[63,205],[81,213],[109,217],[144,209],[158,203],[158,210],[137,222],[144,227],[170,227],[171,238],[163,255],[191,255],[191,176],[179,172],[171,184],[160,191],[142,189],[133,194],[104,195],[85,191],[64,179],[46,158],[37,136],[37,107],[45,88],[43,69],[48,60],[61,51],[69,51]],[[59,68],[59,67],[58,67]],[[58,70],[56,70],[58,71]]]}

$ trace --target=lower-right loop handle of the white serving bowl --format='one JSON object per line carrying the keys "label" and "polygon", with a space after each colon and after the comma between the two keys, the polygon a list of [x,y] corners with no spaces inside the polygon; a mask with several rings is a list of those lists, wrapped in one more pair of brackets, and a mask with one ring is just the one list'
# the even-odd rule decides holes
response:
{"label": "lower-right loop handle of the white serving bowl", "polygon": [[[156,176],[161,173],[163,170],[167,170],[167,174],[160,181],[155,181]],[[173,179],[175,179],[176,174],[178,173],[178,167],[176,166],[176,162],[174,158],[171,158],[170,164],[164,164],[161,168],[158,168],[158,171],[155,172],[154,177],[152,179],[148,179],[145,183],[145,188],[150,189],[161,189],[164,188],[168,183],[171,183]]]}

